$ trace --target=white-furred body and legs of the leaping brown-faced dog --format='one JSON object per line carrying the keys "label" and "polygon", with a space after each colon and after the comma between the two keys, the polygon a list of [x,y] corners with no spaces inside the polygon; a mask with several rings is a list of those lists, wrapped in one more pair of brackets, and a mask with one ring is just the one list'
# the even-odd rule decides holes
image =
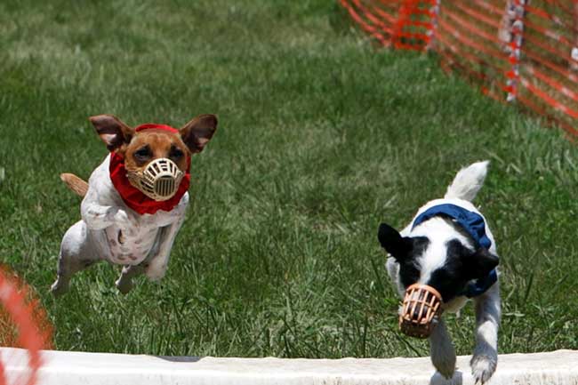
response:
{"label": "white-furred body and legs of the leaping brown-faced dog", "polygon": [[[58,277],[52,293],[68,290],[77,271],[96,261],[124,265],[116,287],[132,288],[132,277],[145,273],[151,280],[165,276],[174,238],[185,219],[189,193],[171,212],[139,215],[124,204],[108,173],[110,156],[92,172],[88,192],[81,204],[82,221],[64,235],[60,245]],[[119,242],[120,241],[120,242]]]}

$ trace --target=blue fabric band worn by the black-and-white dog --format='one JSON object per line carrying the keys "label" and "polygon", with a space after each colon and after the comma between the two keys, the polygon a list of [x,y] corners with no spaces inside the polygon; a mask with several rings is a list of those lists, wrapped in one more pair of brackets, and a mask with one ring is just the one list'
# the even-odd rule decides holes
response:
{"label": "blue fabric band worn by the black-and-white dog", "polygon": [[[412,229],[420,223],[428,221],[440,214],[446,215],[459,223],[460,226],[470,234],[470,237],[472,237],[477,246],[489,249],[492,245],[492,241],[486,236],[486,223],[484,222],[484,218],[478,213],[472,213],[458,205],[443,204],[430,207],[415,218]],[[478,297],[478,295],[486,293],[487,289],[494,285],[497,280],[498,273],[493,269],[486,277],[478,278],[466,285],[460,295],[465,295],[468,298]]]}

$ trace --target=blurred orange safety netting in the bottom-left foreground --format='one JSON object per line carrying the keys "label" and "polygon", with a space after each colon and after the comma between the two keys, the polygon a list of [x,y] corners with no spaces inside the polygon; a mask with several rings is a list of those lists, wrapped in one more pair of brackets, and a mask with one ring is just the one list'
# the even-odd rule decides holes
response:
{"label": "blurred orange safety netting in the bottom-left foreground", "polygon": [[[31,289],[10,269],[0,265],[0,346],[27,349],[28,362],[20,355],[0,356],[0,385],[32,385],[42,365],[41,349],[52,349],[52,325]],[[8,376],[4,367],[28,367]],[[9,381],[10,380],[10,381]]]}

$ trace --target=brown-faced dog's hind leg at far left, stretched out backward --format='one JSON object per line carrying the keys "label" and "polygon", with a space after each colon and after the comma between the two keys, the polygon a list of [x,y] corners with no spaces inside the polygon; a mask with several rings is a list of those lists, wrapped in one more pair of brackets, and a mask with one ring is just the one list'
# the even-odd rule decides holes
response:
{"label": "brown-faced dog's hind leg at far left, stretched out backward", "polygon": [[59,296],[68,291],[70,278],[86,269],[100,258],[89,250],[88,234],[83,221],[77,221],[68,229],[60,245],[58,277],[51,286],[52,294]]}

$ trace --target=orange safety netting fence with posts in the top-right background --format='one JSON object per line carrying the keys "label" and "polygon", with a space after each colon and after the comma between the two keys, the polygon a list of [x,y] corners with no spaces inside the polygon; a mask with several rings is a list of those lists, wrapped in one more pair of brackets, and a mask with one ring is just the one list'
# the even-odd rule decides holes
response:
{"label": "orange safety netting fence with posts in the top-right background", "polygon": [[339,0],[378,44],[438,52],[446,71],[578,135],[578,0]]}

